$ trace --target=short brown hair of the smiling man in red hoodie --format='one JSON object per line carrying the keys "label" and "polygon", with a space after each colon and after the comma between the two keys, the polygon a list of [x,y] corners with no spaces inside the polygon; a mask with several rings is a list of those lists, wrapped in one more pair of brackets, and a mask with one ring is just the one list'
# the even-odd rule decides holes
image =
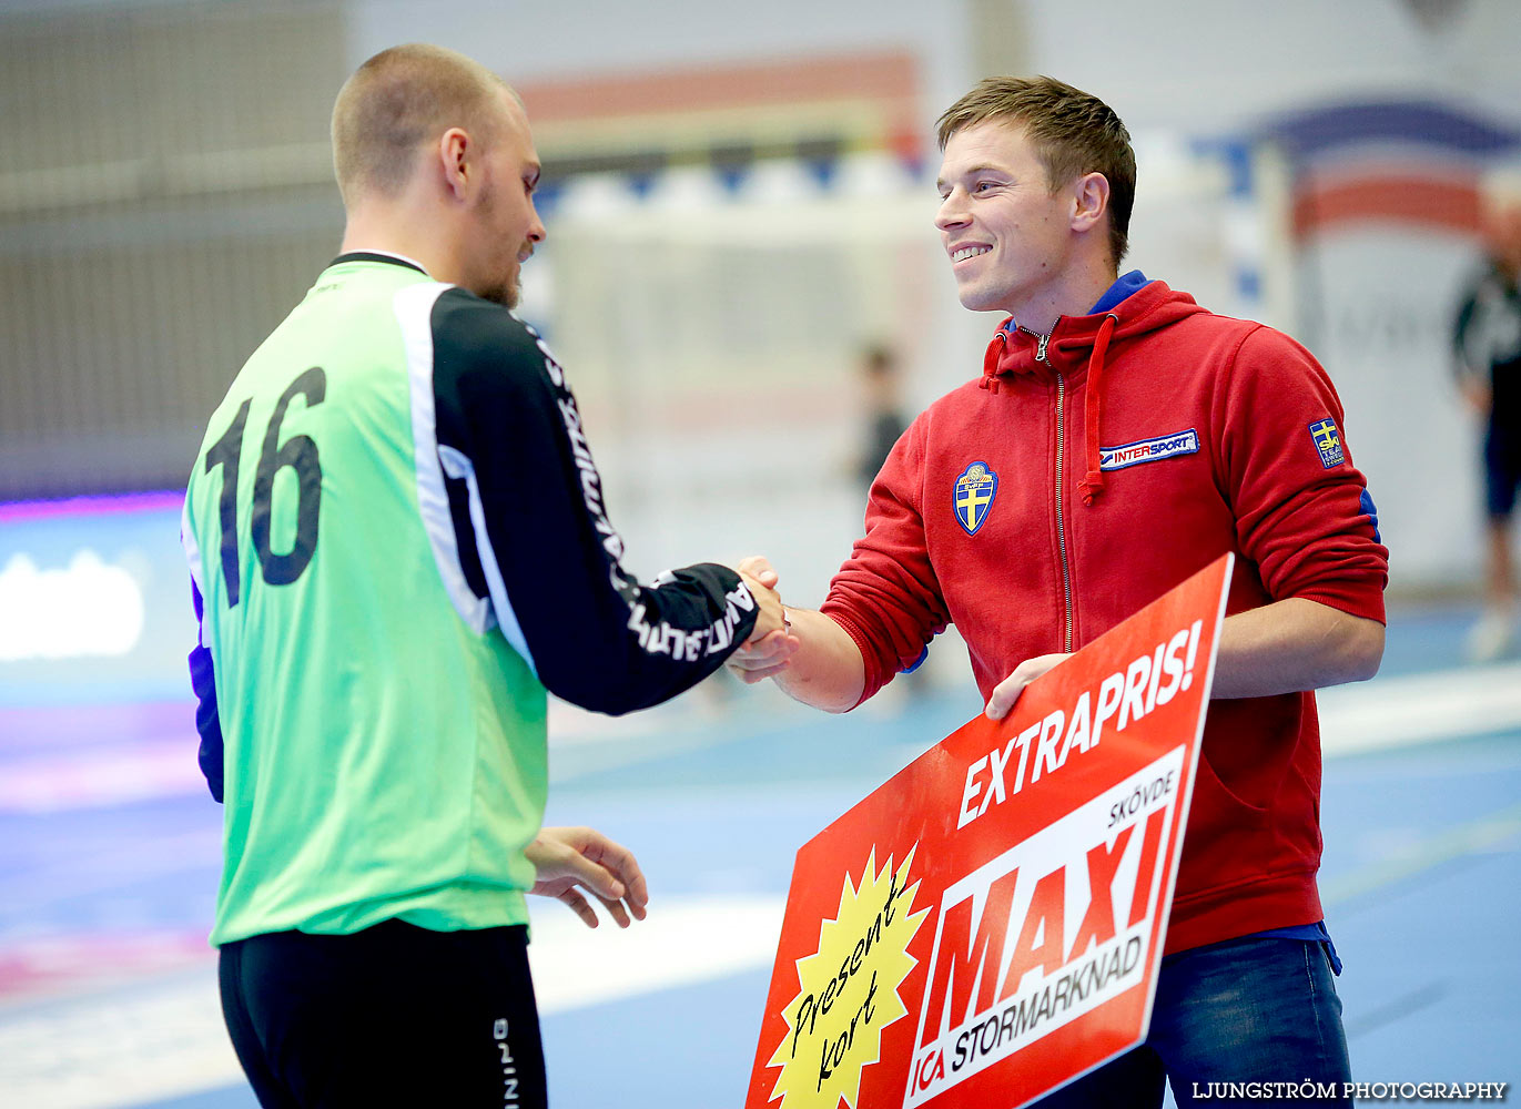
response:
{"label": "short brown hair of the smiling man in red hoodie", "polygon": [[1119,116],[1056,78],[986,78],[946,108],[937,123],[940,149],[957,131],[1002,122],[1024,128],[1056,192],[1081,173],[1109,181],[1109,249],[1119,266],[1130,249],[1130,210],[1136,199],[1136,154]]}

